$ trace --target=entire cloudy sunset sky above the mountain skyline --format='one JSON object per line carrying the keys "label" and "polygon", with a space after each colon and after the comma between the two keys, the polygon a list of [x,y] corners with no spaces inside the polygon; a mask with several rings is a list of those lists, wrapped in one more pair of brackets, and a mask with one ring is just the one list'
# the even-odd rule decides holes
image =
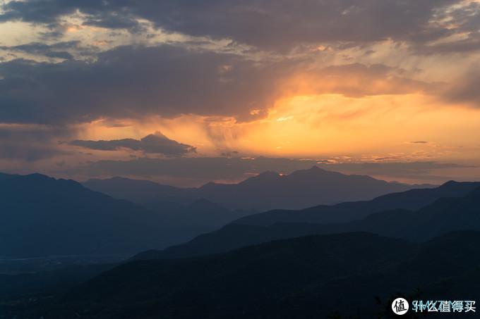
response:
{"label": "entire cloudy sunset sky above the mountain skyline", "polygon": [[0,0],[0,170],[480,180],[480,1]]}

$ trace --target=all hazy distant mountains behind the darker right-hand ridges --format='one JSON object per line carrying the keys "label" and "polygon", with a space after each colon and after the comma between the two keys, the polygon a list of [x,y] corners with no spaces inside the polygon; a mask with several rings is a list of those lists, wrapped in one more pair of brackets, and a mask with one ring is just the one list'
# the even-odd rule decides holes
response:
{"label": "all hazy distant mountains behind the darker right-hand ridges", "polygon": [[187,242],[261,207],[306,206],[411,187],[317,167],[198,189],[119,177],[80,184],[2,174],[0,256],[136,254]]}

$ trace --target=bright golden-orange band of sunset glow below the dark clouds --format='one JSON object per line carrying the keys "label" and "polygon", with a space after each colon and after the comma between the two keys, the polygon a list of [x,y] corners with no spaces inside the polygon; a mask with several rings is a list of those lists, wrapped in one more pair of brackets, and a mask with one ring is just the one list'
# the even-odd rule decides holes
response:
{"label": "bright golden-orange band of sunset glow below the dark clouds", "polygon": [[[472,159],[479,155],[478,123],[480,110],[442,104],[423,94],[320,94],[278,100],[266,118],[250,123],[195,115],[141,122],[99,120],[85,126],[80,137],[140,138],[161,131],[197,146],[202,155],[229,149],[257,156],[452,160],[464,158],[465,149]],[[414,143],[418,141],[427,143]]]}

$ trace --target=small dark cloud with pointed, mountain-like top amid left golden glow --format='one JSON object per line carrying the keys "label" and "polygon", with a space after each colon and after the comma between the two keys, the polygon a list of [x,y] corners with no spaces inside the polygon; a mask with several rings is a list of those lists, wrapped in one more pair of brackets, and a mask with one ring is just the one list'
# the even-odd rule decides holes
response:
{"label": "small dark cloud with pointed, mountain-like top amid left golden glow", "polygon": [[195,147],[176,142],[173,139],[169,139],[165,135],[162,135],[160,132],[147,135],[142,139],[112,139],[109,141],[85,141],[77,139],[69,144],[100,151],[131,149],[133,151],[143,151],[150,154],[163,154],[165,156],[182,156],[196,152]]}

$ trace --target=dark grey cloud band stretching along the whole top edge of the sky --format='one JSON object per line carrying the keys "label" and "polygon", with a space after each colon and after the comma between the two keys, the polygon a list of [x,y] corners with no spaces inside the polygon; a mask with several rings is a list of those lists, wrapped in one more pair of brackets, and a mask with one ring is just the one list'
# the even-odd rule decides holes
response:
{"label": "dark grey cloud band stretching along the whole top edge of the sky", "polygon": [[[469,15],[452,30],[435,18],[441,8],[460,0],[116,0],[11,1],[0,20],[54,24],[61,15],[85,15],[86,24],[138,29],[138,18],[172,32],[229,38],[263,49],[289,49],[319,42],[426,42],[478,27]],[[432,20],[434,23],[432,23]],[[436,23],[435,23],[436,22]]]}

